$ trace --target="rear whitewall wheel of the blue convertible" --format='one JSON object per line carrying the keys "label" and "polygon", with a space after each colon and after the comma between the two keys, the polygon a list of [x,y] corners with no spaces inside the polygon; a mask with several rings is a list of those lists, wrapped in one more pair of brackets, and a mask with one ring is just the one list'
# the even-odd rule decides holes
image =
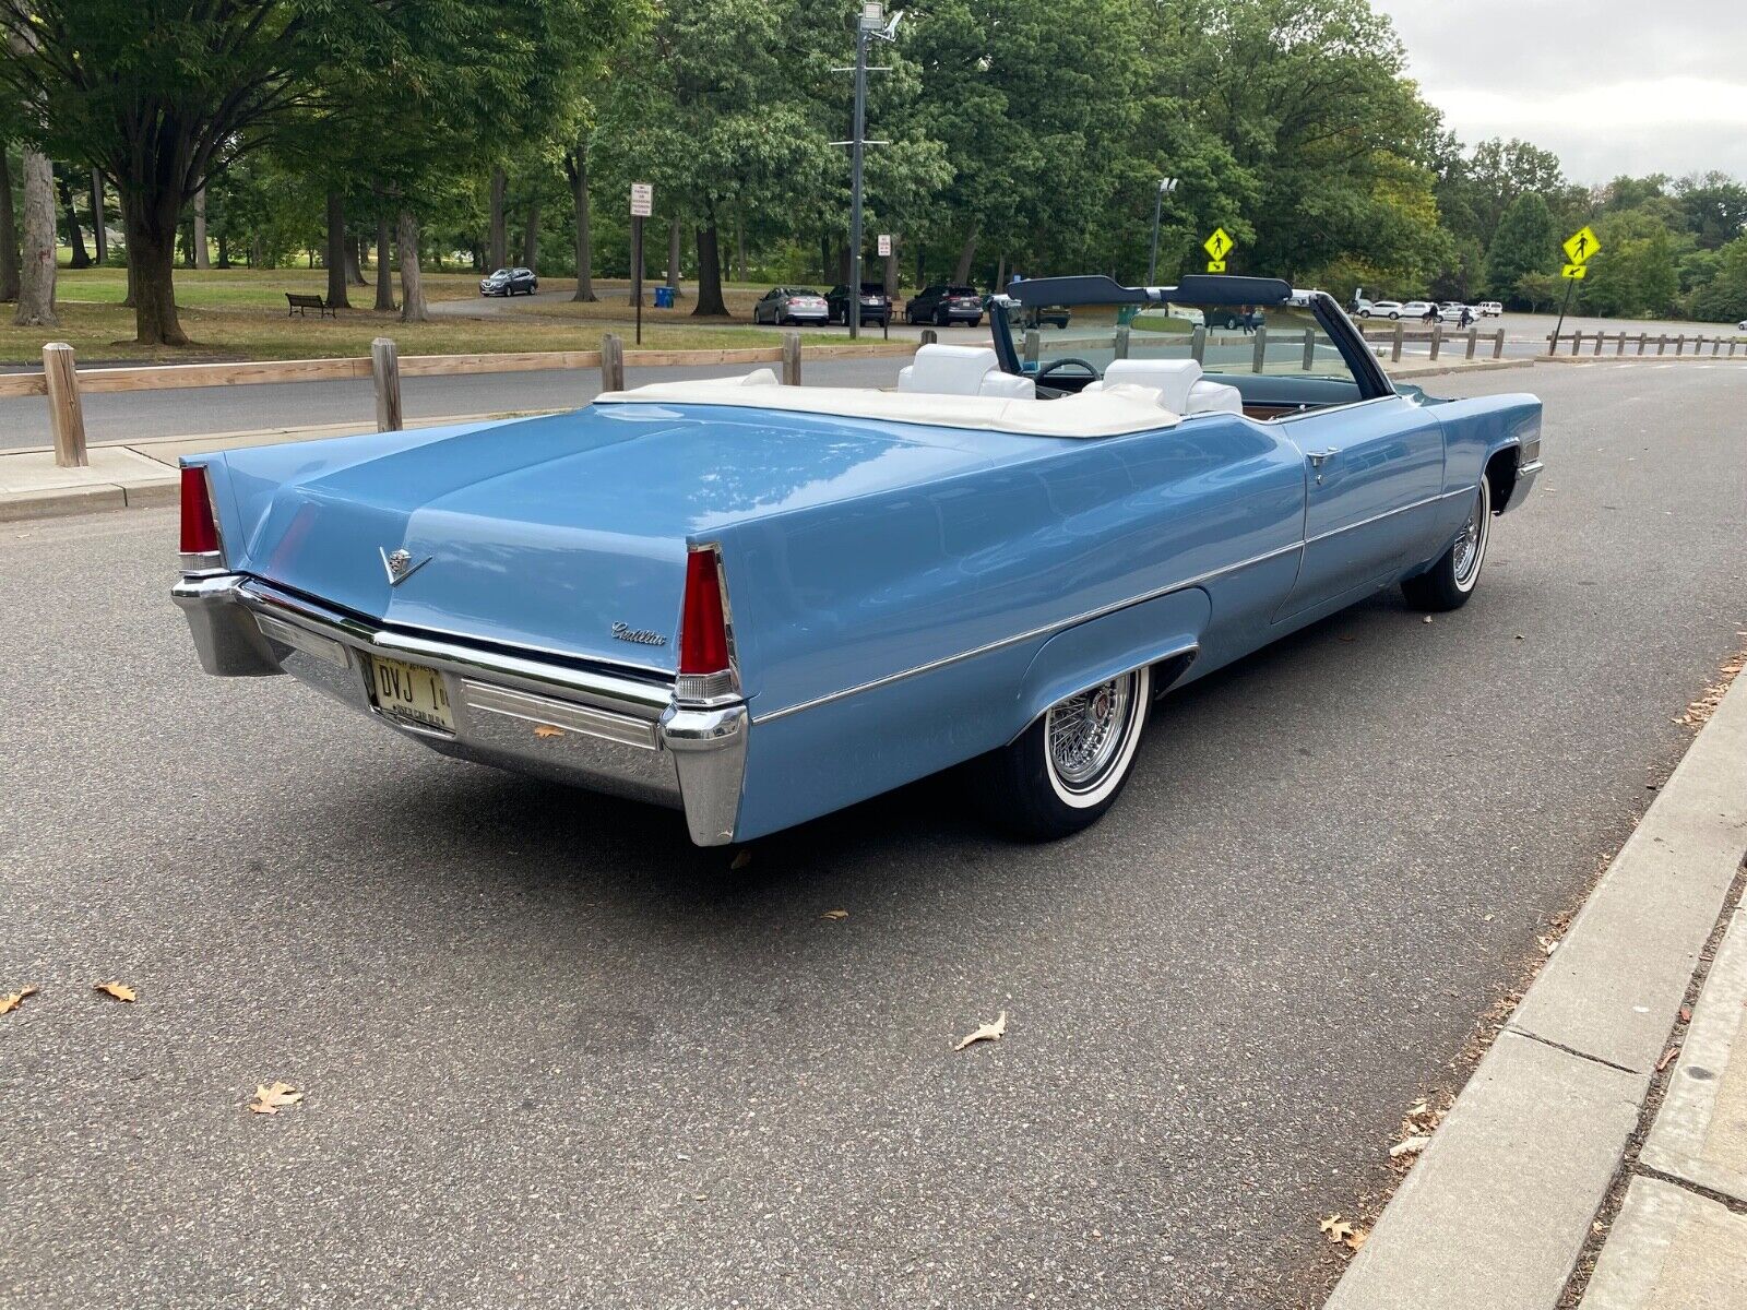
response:
{"label": "rear whitewall wheel of the blue convertible", "polygon": [[1097,823],[1134,770],[1151,690],[1151,669],[1136,669],[1050,706],[1015,742],[975,762],[984,809],[1034,842]]}

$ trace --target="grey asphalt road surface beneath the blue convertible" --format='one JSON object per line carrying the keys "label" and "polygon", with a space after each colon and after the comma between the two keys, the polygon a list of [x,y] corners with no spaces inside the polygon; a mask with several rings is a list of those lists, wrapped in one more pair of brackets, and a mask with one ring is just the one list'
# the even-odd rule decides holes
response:
{"label": "grey asphalt road surface beneath the blue convertible", "polygon": [[[1317,1217],[1377,1191],[1747,629],[1747,376],[1448,390],[1530,386],[1548,473],[1473,604],[1380,596],[1169,697],[1120,805],[1041,847],[936,779],[732,870],[664,810],[201,676],[169,512],[9,524],[0,992],[42,990],[0,1017],[0,1301],[1314,1296]],[[248,1114],[273,1079],[307,1099]]]}

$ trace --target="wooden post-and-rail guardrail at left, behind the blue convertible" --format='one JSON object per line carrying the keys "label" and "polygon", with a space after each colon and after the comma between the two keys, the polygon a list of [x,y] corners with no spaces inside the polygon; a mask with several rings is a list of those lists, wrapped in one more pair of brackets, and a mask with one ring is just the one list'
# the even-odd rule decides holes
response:
{"label": "wooden post-and-rail guardrail at left, behind the blue convertible", "polygon": [[[922,342],[935,341],[933,330]],[[547,369],[599,369],[603,391],[622,391],[625,369],[706,367],[718,363],[776,363],[783,381],[800,386],[802,358],[835,360],[854,356],[912,355],[910,342],[870,346],[802,346],[798,332],[784,332],[779,346],[716,351],[625,351],[611,332],[597,351],[524,351],[515,355],[407,355],[400,358],[393,339],[377,337],[367,358],[267,360],[250,363],[166,363],[126,369],[79,370],[73,348],[54,341],[42,348],[40,374],[0,374],[0,400],[47,396],[49,428],[54,433],[54,463],[82,468],[86,419],[80,396],[108,391],[164,391],[201,386],[260,386],[267,383],[349,383],[369,379],[376,388],[376,428],[402,426],[400,379],[452,374],[540,372]]]}

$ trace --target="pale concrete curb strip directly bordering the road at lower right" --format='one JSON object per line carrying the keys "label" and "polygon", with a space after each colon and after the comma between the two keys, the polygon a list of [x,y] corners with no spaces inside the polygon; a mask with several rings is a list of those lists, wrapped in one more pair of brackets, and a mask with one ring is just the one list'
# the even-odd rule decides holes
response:
{"label": "pale concrete curb strip directly bordering the road at lower right", "polygon": [[1326,1310],[1553,1310],[1747,852],[1737,678]]}

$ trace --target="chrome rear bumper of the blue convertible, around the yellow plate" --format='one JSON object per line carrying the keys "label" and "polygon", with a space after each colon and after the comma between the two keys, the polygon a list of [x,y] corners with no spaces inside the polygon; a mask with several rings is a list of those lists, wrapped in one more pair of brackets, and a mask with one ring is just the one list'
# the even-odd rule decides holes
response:
{"label": "chrome rear bumper of the blue convertible, around the yellow plate", "polygon": [[[671,805],[699,845],[734,840],[744,702],[690,706],[671,683],[377,627],[238,573],[183,578],[171,599],[210,674],[288,672],[444,755]],[[369,655],[437,669],[454,732],[377,709]]]}

